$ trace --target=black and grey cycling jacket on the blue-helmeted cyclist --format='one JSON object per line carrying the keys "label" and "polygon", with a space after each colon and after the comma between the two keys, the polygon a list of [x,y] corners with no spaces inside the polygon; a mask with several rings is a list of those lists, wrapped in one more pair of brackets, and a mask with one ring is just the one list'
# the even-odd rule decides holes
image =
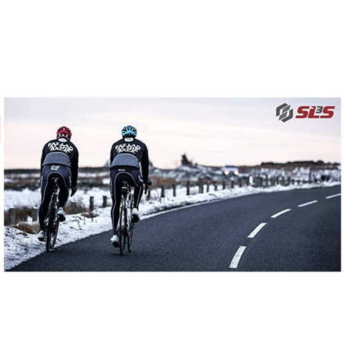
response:
{"label": "black and grey cycling jacket on the blue-helmeted cyclist", "polygon": [[146,182],[149,178],[149,151],[146,144],[132,137],[120,139],[112,144],[110,169],[116,167],[139,169]]}

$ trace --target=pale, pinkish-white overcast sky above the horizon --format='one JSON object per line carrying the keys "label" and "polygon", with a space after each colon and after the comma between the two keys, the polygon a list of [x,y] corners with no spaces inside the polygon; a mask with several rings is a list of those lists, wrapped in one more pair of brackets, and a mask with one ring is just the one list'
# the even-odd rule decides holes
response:
{"label": "pale, pinkish-white overcast sky above the horizon", "polygon": [[[331,119],[276,118],[287,103],[335,105]],[[80,166],[100,167],[121,128],[133,125],[155,167],[187,153],[205,165],[294,160],[341,162],[341,108],[335,98],[5,99],[5,169],[39,168],[42,147],[60,126],[72,131]]]}

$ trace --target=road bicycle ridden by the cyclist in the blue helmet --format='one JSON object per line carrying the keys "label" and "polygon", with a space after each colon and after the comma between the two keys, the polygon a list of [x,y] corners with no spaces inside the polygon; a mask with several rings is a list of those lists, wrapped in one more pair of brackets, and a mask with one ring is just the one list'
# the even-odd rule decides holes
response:
{"label": "road bicycle ridden by the cyclist in the blue helmet", "polygon": [[[145,193],[147,194],[147,185],[145,185]],[[126,244],[128,245],[128,252],[131,252],[133,244],[133,232],[135,223],[132,217],[134,207],[133,196],[131,194],[131,187],[128,182],[121,183],[121,207],[119,213],[119,251],[124,255]]]}

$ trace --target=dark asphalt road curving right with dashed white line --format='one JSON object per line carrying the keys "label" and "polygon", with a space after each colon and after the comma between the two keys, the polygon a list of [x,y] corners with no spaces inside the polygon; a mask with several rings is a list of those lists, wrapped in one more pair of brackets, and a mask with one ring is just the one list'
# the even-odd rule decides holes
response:
{"label": "dark asphalt road curving right with dashed white line", "polygon": [[326,198],[339,193],[292,190],[172,210],[137,223],[132,253],[119,255],[109,231],[11,271],[341,271],[341,196]]}

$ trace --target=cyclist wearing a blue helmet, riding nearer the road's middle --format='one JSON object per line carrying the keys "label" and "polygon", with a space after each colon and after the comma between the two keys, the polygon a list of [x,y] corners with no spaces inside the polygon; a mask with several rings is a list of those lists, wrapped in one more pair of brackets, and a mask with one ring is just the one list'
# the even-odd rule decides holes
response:
{"label": "cyclist wearing a blue helmet, riding nearer the road's middle", "polygon": [[121,130],[122,139],[112,145],[110,153],[110,193],[112,197],[111,218],[113,226],[112,243],[117,244],[117,224],[121,203],[121,185],[128,182],[134,189],[133,221],[139,221],[139,202],[143,194],[143,184],[149,181],[149,152],[146,144],[135,139],[137,130],[125,126]]}

